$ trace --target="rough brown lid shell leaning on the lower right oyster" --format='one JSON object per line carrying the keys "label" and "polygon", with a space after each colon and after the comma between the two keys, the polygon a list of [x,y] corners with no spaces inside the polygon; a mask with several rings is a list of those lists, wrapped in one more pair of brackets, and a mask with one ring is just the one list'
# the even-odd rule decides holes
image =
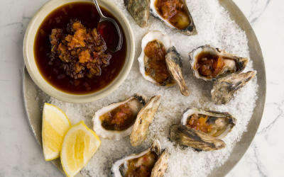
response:
{"label": "rough brown lid shell leaning on the lower right oyster", "polygon": [[214,151],[226,147],[221,139],[180,124],[170,126],[170,139],[180,146],[193,147],[202,151]]}

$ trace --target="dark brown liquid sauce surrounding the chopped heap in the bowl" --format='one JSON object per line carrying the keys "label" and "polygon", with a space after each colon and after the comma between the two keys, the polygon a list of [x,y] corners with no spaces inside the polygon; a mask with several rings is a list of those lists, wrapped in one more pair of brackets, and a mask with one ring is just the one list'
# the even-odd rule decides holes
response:
{"label": "dark brown liquid sauce surrounding the chopped heap in the bowl", "polygon": [[[62,10],[63,8],[64,10]],[[117,21],[117,19],[109,11],[102,7],[101,10],[104,16],[113,18],[116,23],[121,26],[119,21]],[[58,20],[59,18],[60,20]],[[100,19],[97,8],[92,3],[74,2],[56,8],[54,11],[48,14],[47,17],[45,17],[43,22],[40,24],[40,27],[38,28],[37,34],[35,35],[35,63],[37,64],[38,70],[40,71],[40,74],[43,76],[45,81],[48,81],[48,83],[56,89],[59,89],[60,91],[63,91],[65,93],[72,94],[94,93],[101,89],[104,89],[112,81],[114,81],[114,79],[116,79],[116,76],[119,75],[119,72],[121,72],[121,69],[124,66],[127,50],[124,30],[121,28],[124,41],[121,50],[111,53],[112,57],[110,59],[109,66],[102,68],[102,74],[100,76],[93,76],[92,78],[84,76],[83,78],[76,79],[77,81],[80,81],[80,84],[75,86],[74,84],[72,84],[72,81],[74,81],[74,79],[69,76],[58,79],[58,76],[65,74],[63,69],[55,66],[55,64],[48,64],[48,53],[51,50],[49,38],[51,30],[53,28],[66,28],[67,23],[70,23],[70,19],[75,18],[81,21],[82,25],[87,28],[97,28],[97,24],[99,23]],[[43,30],[43,33],[45,35],[43,35],[43,33],[40,33],[40,30]],[[113,31],[116,33],[116,28],[114,28]]]}

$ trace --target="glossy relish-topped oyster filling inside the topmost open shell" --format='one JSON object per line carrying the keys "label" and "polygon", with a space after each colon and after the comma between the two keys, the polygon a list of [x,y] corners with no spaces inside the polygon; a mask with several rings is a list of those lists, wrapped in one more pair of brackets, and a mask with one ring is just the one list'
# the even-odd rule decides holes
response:
{"label": "glossy relish-topped oyster filling inside the topmost open shell", "polygon": [[175,28],[182,30],[190,25],[190,16],[182,0],[156,0],[155,8]]}

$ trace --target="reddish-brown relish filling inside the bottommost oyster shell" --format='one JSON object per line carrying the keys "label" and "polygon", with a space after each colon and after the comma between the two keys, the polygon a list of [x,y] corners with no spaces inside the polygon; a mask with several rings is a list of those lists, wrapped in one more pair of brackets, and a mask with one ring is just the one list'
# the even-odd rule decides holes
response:
{"label": "reddish-brown relish filling inside the bottommost oyster shell", "polygon": [[131,159],[125,177],[150,177],[157,160],[155,152],[147,152],[137,159]]}

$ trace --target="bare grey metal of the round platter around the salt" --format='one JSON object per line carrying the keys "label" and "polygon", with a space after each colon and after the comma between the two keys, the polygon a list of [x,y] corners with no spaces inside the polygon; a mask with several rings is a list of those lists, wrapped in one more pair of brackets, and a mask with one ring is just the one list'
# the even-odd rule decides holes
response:
{"label": "bare grey metal of the round platter around the salt", "polygon": [[[246,36],[249,40],[249,55],[250,59],[253,60],[253,69],[257,71],[257,84],[258,100],[256,101],[256,108],[253,110],[253,115],[249,124],[247,126],[247,132],[244,132],[241,141],[236,143],[233,151],[231,152],[229,159],[217,169],[214,169],[209,176],[225,176],[229,173],[231,169],[238,163],[242,156],[246,153],[249,148],[253,138],[256,135],[258,126],[261,123],[261,118],[263,115],[263,109],[266,102],[266,70],[263,61],[263,55],[261,52],[261,47],[256,38],[256,34],[253,32],[251,24],[241,12],[238,6],[234,4],[232,0],[219,0],[219,3],[229,12],[232,20],[236,21],[236,24],[240,26],[242,30],[246,32]],[[42,110],[43,103],[48,101],[49,96],[41,91],[38,86],[35,85],[31,76],[29,76],[26,67],[23,72],[23,101],[26,107],[26,115],[28,122],[31,125],[31,130],[37,140],[40,148],[42,148],[42,137],[41,137],[41,127],[42,127]],[[62,174],[65,175],[60,158],[51,161]],[[66,175],[65,175],[66,176]],[[76,177],[82,176],[81,173],[77,173]]]}

